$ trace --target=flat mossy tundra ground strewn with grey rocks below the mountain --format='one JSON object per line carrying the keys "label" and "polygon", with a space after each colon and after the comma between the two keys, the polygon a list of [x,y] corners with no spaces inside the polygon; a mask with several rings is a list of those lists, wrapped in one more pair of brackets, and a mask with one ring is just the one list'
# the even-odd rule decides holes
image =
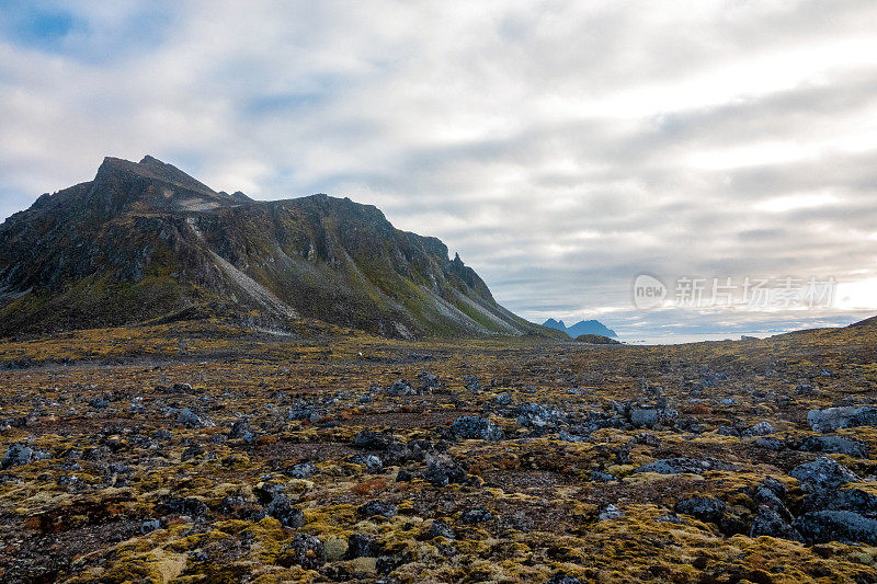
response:
{"label": "flat mossy tundra ground strewn with grey rocks below the mountain", "polygon": [[5,582],[877,581],[877,327],[0,344]]}

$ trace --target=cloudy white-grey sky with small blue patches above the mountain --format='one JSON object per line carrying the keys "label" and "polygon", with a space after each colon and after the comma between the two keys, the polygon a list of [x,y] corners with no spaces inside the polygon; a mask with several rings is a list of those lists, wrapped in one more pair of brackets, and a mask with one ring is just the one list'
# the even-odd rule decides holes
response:
{"label": "cloudy white-grey sky with small blue patches above the mountain", "polygon": [[[150,153],[376,205],[534,321],[848,324],[877,313],[875,30],[873,0],[0,0],[0,219]],[[733,302],[682,306],[714,278]]]}

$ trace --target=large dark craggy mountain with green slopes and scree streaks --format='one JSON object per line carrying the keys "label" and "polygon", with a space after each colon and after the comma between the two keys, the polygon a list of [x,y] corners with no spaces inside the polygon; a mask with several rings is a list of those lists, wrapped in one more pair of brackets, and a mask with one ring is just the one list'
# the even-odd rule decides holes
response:
{"label": "large dark craggy mountain with green slopes and scree streaks", "polygon": [[374,206],[217,193],[149,156],[106,158],[94,180],[0,225],[0,336],[203,316],[397,337],[549,333]]}

